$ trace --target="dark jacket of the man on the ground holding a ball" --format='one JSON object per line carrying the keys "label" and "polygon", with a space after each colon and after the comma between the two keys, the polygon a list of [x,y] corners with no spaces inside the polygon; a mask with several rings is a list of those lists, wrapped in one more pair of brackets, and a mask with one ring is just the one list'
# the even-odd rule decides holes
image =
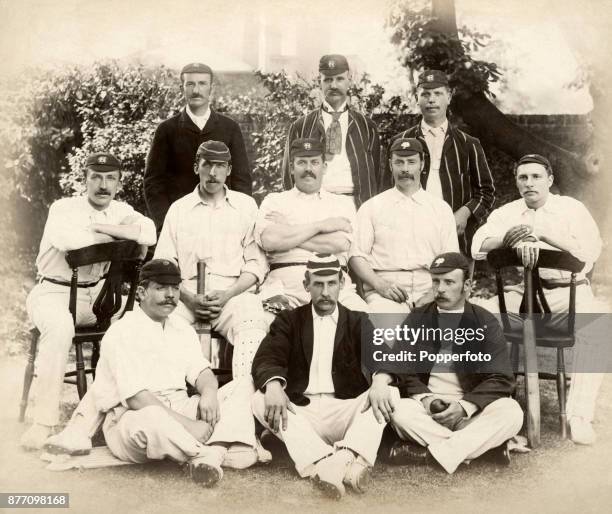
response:
{"label": "dark jacket of the man on the ground holding a ball", "polygon": [[[435,302],[428,303],[422,307],[417,307],[411,312],[405,321],[408,326],[414,327],[438,327],[438,308]],[[483,341],[465,342],[462,345],[453,344],[453,353],[472,352],[489,353],[490,362],[481,362],[468,366],[461,365],[457,369],[457,377],[461,388],[464,391],[463,399],[477,405],[479,409],[484,409],[489,403],[511,396],[516,386],[508,346],[504,339],[503,331],[497,321],[489,311],[478,305],[469,302],[465,303],[465,310],[458,328],[476,329],[486,327],[484,333],[486,337]],[[423,349],[421,346],[417,349]],[[428,348],[431,353],[438,353],[440,343],[433,342]],[[405,375],[403,377],[401,393],[404,397],[413,394],[428,393],[429,376],[434,363],[428,364],[429,369],[421,369],[421,373]],[[452,368],[451,368],[452,369]],[[468,372],[469,370],[469,372]]]}

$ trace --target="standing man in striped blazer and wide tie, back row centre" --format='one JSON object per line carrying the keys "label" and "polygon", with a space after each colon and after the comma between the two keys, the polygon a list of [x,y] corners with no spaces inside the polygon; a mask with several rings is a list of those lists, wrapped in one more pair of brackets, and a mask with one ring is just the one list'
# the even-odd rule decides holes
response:
{"label": "standing man in striped blazer and wide tie, back row centre", "polygon": [[347,103],[351,78],[346,57],[324,55],[319,61],[319,72],[325,99],[320,108],[289,128],[282,168],[285,189],[293,187],[291,143],[298,138],[314,138],[325,144],[327,173],[323,189],[351,196],[359,207],[390,186],[383,184],[380,172],[378,130],[370,118]]}

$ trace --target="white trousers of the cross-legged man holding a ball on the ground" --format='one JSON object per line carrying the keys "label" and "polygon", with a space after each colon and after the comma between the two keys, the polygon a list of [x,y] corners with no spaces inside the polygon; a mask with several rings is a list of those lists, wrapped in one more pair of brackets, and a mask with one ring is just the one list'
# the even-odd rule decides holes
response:
{"label": "white trousers of the cross-legged man holding a ball on the ground", "polygon": [[475,459],[518,434],[523,411],[512,398],[500,398],[453,432],[434,421],[420,401],[402,398],[391,422],[402,439],[426,446],[440,465],[453,473],[463,461]]}

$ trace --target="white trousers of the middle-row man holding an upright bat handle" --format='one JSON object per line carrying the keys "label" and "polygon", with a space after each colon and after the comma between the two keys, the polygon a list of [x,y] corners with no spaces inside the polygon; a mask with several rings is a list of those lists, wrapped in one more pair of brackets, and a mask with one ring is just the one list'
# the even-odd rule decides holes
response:
{"label": "white trousers of the middle-row man holding an upright bat handle", "polygon": [[[224,287],[219,287],[219,289],[227,289],[231,283],[235,282],[235,279],[229,280],[231,282],[224,283]],[[183,302],[179,302],[171,316],[178,316],[189,324],[195,322],[193,312]],[[211,326],[234,346],[233,377],[250,376],[255,353],[267,331],[267,323],[259,297],[253,293],[244,292],[230,298],[219,317],[212,321]]]}

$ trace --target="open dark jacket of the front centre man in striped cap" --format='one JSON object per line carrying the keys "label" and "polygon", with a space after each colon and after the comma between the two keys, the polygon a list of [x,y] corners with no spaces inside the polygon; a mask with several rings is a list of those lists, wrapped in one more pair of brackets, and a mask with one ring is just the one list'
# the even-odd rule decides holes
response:
{"label": "open dark jacket of the front centre man in striped cap", "polygon": [[[336,398],[356,398],[369,388],[361,366],[363,312],[338,304],[338,326],[334,340],[332,381]],[[272,377],[287,381],[285,392],[296,405],[308,405],[308,387],[313,348],[312,304],[282,311],[270,326],[253,360],[252,374],[257,389]]]}

